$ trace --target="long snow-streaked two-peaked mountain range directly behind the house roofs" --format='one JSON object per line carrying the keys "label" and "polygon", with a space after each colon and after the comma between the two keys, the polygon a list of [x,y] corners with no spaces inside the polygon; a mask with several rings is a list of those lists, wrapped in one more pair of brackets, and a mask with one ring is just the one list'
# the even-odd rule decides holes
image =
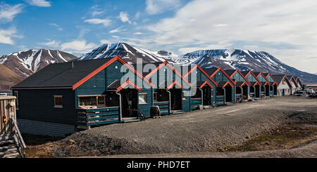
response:
{"label": "long snow-streaked two-peaked mountain range directly behind the house roofs", "polygon": [[223,67],[225,70],[239,69],[241,71],[253,70],[254,72],[261,71],[272,74],[290,74],[301,77],[307,83],[317,81],[316,74],[299,71],[264,51],[238,49],[201,50],[178,56],[168,53],[168,51],[154,52],[144,48],[132,47],[126,43],[118,43],[101,45],[92,52],[83,55],[79,60],[113,58],[116,55],[131,63],[135,63],[137,58],[142,58],[144,63],[163,62],[166,60],[173,65],[197,64],[203,68]]}

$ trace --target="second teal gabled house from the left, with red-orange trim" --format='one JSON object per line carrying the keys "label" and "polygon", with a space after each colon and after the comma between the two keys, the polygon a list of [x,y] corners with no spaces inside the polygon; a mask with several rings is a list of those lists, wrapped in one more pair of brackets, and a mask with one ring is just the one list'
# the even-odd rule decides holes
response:
{"label": "second teal gabled house from the left, with red-orange trim", "polygon": [[[136,66],[136,65],[135,65]],[[191,84],[168,62],[143,64],[145,79],[154,85],[154,105],[159,106],[161,114],[178,114],[192,110]]]}

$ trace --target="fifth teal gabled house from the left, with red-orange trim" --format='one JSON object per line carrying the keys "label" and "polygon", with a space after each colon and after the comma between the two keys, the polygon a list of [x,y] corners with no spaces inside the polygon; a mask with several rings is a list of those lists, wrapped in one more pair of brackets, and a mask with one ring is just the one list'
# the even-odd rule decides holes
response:
{"label": "fifth teal gabled house from the left, with red-orange trim", "polygon": [[250,82],[240,70],[225,70],[230,78],[235,81],[235,97],[236,99],[247,100],[250,92]]}

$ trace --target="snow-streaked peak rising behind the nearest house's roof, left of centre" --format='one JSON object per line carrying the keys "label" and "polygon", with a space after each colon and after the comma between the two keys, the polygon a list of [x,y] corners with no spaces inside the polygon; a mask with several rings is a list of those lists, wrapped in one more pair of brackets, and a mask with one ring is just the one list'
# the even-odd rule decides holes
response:
{"label": "snow-streaked peak rising behind the nearest house's roof, left of centre", "polygon": [[126,43],[103,44],[95,48],[92,52],[83,55],[79,60],[91,60],[97,58],[113,58],[120,56],[127,62],[136,63],[137,58],[142,58],[143,62],[163,62],[168,60],[174,62],[177,55],[167,51],[148,51],[143,48],[133,48]]}

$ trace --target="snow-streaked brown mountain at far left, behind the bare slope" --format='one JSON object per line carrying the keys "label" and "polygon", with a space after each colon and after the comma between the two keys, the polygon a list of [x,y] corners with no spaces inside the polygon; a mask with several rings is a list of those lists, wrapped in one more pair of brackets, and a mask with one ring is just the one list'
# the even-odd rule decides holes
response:
{"label": "snow-streaked brown mountain at far left, behind the bare slope", "polygon": [[28,77],[46,65],[55,62],[68,62],[77,57],[58,50],[32,49],[3,55],[0,57],[0,64],[5,65],[22,77]]}

